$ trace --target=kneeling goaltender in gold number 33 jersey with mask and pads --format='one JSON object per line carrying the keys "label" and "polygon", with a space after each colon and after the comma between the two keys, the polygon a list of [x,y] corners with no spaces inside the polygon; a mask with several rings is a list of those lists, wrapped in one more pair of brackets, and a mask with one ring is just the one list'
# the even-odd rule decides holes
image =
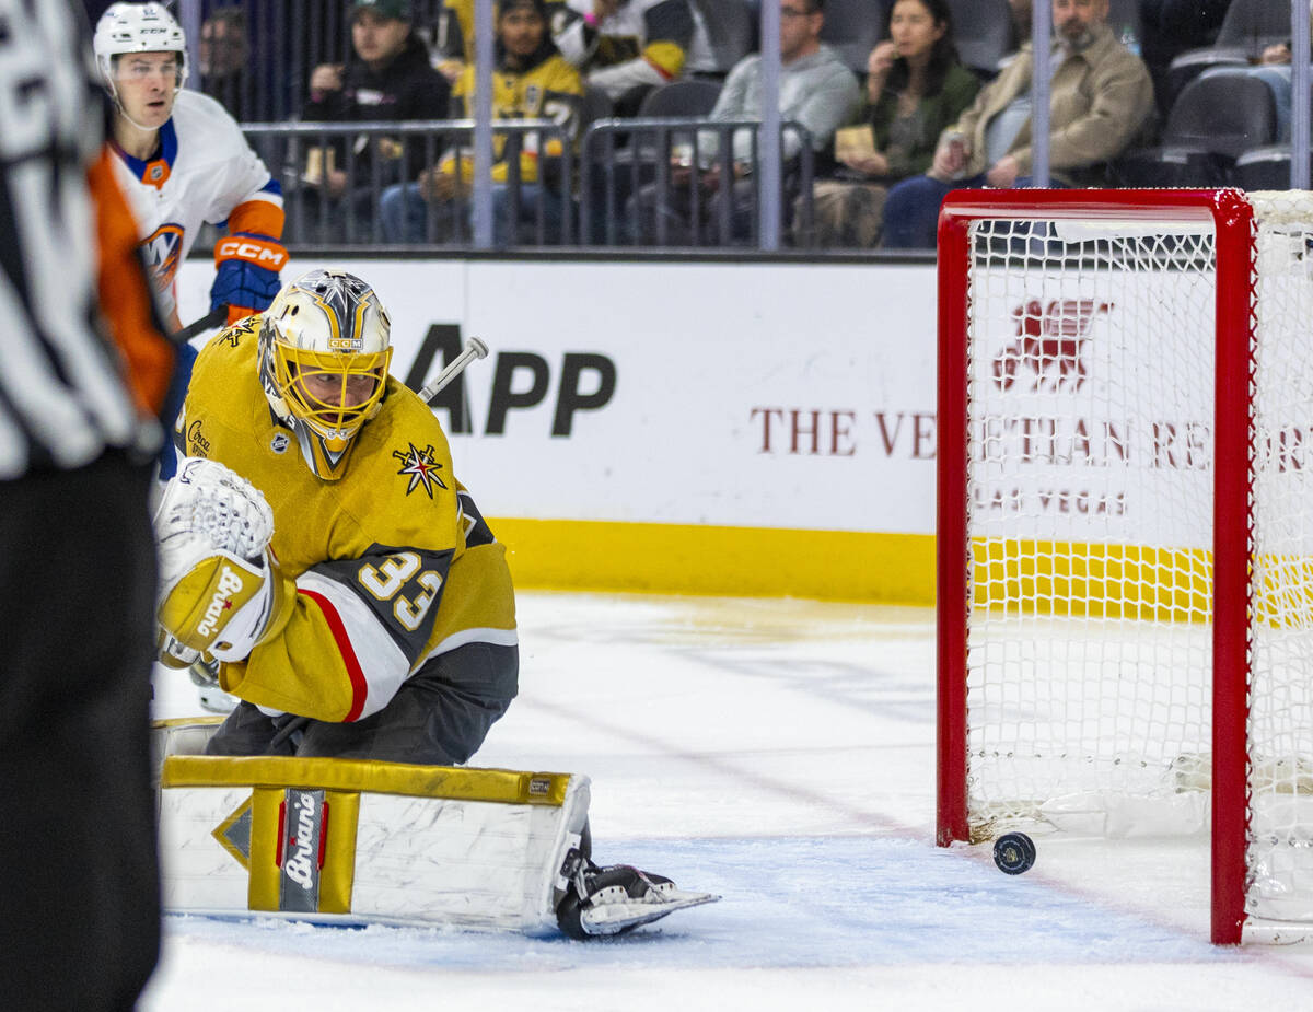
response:
{"label": "kneeling goaltender in gold number 33 jersey with mask and pads", "polygon": [[717,896],[590,860],[588,780],[462,768],[516,694],[506,553],[340,270],[200,353],[155,518],[165,910],[616,935]]}

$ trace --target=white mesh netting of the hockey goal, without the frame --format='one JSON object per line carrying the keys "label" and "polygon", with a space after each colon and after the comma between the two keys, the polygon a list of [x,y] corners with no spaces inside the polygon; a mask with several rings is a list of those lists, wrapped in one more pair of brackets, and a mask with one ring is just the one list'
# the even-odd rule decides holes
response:
{"label": "white mesh netting of the hockey goal, without the frame", "polygon": [[[1247,908],[1313,920],[1313,198],[1251,201]],[[972,836],[1207,832],[1213,230],[986,218],[969,282]]]}

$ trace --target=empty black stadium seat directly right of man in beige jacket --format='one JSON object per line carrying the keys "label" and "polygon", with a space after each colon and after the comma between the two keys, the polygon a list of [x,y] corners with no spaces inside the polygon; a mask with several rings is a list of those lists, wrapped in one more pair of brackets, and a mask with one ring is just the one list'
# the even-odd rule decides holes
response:
{"label": "empty black stadium seat directly right of man in beige jacket", "polygon": [[1130,186],[1220,186],[1241,155],[1275,139],[1271,89],[1247,74],[1220,71],[1187,84],[1167,114],[1162,147],[1119,159],[1115,175]]}

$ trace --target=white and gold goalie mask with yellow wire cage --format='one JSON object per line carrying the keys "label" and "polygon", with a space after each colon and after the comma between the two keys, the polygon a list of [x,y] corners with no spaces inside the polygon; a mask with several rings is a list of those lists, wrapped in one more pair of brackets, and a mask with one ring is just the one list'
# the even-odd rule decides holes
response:
{"label": "white and gold goalie mask with yellow wire cage", "polygon": [[343,476],[361,425],[382,407],[390,329],[374,290],[345,270],[302,274],[264,311],[264,394],[324,480]]}

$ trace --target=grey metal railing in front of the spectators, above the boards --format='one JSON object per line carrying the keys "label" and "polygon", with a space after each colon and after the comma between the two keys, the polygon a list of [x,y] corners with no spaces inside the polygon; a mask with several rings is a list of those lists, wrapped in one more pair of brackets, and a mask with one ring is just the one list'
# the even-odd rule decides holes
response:
{"label": "grey metal railing in front of the spectators, above the boards", "polygon": [[[780,215],[781,230],[792,223],[798,244],[807,245],[811,135],[800,123],[781,123],[781,135],[796,137],[800,151],[786,163],[784,192],[769,201],[758,171],[760,129],[748,119],[601,119],[590,126],[576,155],[567,130],[553,121],[499,121],[494,133],[507,171],[490,194],[492,245],[758,247],[767,203]],[[243,126],[282,185],[284,242],[291,249],[478,245],[473,184],[454,188],[446,200],[419,193],[421,176],[444,161],[461,163],[457,177],[471,175],[474,130],[471,119]],[[741,146],[747,139],[739,159],[735,138]],[[551,152],[538,155],[536,180],[521,179],[525,148]],[[674,165],[672,155],[680,152],[685,165]],[[334,173],[336,186],[330,184]],[[716,173],[735,184],[710,188]],[[685,234],[678,231],[681,218]]]}

